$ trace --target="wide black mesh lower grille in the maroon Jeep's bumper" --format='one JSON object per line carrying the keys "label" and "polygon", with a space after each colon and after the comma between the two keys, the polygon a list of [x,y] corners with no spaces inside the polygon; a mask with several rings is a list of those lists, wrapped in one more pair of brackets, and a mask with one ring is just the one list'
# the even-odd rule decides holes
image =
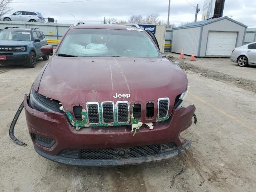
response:
{"label": "wide black mesh lower grille in the maroon Jeep's bumper", "polygon": [[[79,158],[84,160],[108,160],[108,159],[126,159],[142,156],[160,154],[176,148],[174,143],[155,144],[146,146],[136,146],[130,148],[107,148],[107,149],[80,149],[80,150],[62,150],[60,156],[67,158]],[[123,151],[124,155],[118,155]]]}

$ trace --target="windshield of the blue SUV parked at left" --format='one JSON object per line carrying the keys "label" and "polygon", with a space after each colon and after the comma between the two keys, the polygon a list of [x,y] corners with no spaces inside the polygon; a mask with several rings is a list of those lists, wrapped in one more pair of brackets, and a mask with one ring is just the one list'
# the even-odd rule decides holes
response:
{"label": "windshield of the blue SUV parked at left", "polygon": [[30,41],[30,32],[0,31],[0,40]]}

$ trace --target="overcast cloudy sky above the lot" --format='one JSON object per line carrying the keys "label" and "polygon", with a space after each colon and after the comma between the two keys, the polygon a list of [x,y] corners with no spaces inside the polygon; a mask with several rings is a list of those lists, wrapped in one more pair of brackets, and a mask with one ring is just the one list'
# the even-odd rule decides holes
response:
{"label": "overcast cloudy sky above the lot", "polygon": [[[40,12],[44,17],[51,17],[58,23],[74,23],[82,20],[86,23],[100,23],[105,17],[116,17],[128,20],[130,16],[158,13],[159,19],[167,21],[168,0],[90,0],[87,2],[32,4],[25,2],[73,2],[79,0],[13,0],[13,12],[19,10]],[[202,18],[204,0],[187,0],[192,5],[199,4],[201,11],[198,21]],[[194,21],[195,10],[186,0],[171,0],[170,23],[179,26],[182,22]],[[215,1],[215,0],[214,0]],[[234,20],[248,27],[256,27],[256,0],[226,0],[224,15],[232,15]]]}

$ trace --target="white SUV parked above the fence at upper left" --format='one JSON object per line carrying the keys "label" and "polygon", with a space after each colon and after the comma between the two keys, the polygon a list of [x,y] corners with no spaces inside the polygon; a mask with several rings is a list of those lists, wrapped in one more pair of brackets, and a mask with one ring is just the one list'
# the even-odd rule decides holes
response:
{"label": "white SUV parked above the fence at upper left", "polygon": [[17,11],[14,14],[2,15],[0,21],[44,22],[45,20],[38,12]]}

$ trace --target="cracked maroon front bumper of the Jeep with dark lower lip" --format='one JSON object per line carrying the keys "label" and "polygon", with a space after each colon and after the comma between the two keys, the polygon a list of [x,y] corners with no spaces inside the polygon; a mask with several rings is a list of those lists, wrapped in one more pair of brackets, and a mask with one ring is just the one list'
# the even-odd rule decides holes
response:
{"label": "cracked maroon front bumper of the Jeep with dark lower lip", "polygon": [[[81,166],[115,166],[127,164],[140,164],[143,162],[155,162],[170,158],[183,152],[191,145],[191,141],[181,139],[180,132],[186,130],[192,124],[192,118],[196,110],[194,105],[186,108],[178,108],[172,111],[171,117],[164,122],[154,123],[154,129],[141,126],[135,136],[131,133],[131,126],[112,127],[88,127],[76,130],[64,113],[39,112],[28,106],[25,95],[24,108],[28,130],[32,138],[36,152],[50,160]],[[48,146],[42,146],[38,142],[48,139]],[[144,156],[143,154],[129,158],[105,158],[82,159],[79,155],[61,156],[63,150],[102,150],[102,149],[130,149],[135,147],[161,145],[172,143],[175,148],[165,152],[159,152]],[[50,145],[49,145],[50,144]],[[127,152],[128,153],[128,152]],[[119,154],[118,154],[119,155]]]}

